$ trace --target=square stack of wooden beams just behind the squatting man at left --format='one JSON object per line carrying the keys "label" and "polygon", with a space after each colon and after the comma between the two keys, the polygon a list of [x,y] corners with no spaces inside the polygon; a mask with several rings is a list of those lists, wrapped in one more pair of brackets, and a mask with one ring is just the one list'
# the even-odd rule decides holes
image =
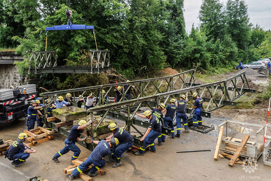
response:
{"label": "square stack of wooden beams just behind the squatting man at left", "polygon": [[53,131],[49,131],[48,129],[44,129],[42,127],[30,129],[29,131],[24,130],[23,132],[29,136],[24,142],[24,144],[27,144],[28,146],[33,146],[34,144],[39,144],[54,138],[54,136],[51,135],[54,133]]}

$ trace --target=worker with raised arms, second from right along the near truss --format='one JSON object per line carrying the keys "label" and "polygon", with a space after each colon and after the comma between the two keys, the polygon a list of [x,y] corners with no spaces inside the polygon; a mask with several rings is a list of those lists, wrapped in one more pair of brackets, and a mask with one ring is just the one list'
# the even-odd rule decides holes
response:
{"label": "worker with raised arms, second from right along the near truss", "polygon": [[182,94],[180,96],[180,100],[176,102],[177,113],[176,113],[176,129],[177,134],[176,137],[180,138],[181,134],[181,121],[183,121],[183,125],[185,127],[185,131],[188,131],[188,123],[187,123],[187,115],[185,113],[185,105],[188,101],[187,95]]}

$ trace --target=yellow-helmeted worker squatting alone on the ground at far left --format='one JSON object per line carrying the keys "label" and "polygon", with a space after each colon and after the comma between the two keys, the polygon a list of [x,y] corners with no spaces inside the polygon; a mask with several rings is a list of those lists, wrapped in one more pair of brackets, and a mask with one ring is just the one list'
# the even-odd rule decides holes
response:
{"label": "yellow-helmeted worker squatting alone on the ground at far left", "polygon": [[30,156],[30,153],[36,152],[36,150],[23,143],[26,138],[26,133],[20,133],[17,140],[14,141],[4,153],[5,157],[8,157],[8,160],[13,161],[11,164],[15,167],[20,167],[20,163],[25,162],[25,160]]}

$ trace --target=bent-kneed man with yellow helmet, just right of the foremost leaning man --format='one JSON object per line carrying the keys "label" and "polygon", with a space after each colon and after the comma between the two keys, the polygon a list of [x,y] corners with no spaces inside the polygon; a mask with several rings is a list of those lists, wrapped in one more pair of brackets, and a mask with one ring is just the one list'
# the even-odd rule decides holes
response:
{"label": "bent-kneed man with yellow helmet, just right of the foremost leaning man", "polygon": [[119,144],[113,147],[113,153],[111,155],[111,162],[116,162],[114,165],[112,165],[114,168],[121,165],[120,157],[126,150],[132,147],[134,144],[134,139],[127,131],[122,128],[118,128],[115,123],[108,125],[108,128],[111,130],[111,132],[113,132],[113,134],[105,138],[105,141],[110,142],[112,137],[119,140]]}

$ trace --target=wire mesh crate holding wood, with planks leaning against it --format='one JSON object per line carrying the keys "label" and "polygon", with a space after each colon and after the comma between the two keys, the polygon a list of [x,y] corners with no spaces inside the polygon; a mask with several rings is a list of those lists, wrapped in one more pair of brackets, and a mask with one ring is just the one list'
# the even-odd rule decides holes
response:
{"label": "wire mesh crate holding wood, with planks leaning against it", "polygon": [[220,150],[234,154],[244,136],[248,134],[250,138],[240,155],[258,159],[263,153],[264,126],[229,120],[219,126],[221,125],[226,129]]}

